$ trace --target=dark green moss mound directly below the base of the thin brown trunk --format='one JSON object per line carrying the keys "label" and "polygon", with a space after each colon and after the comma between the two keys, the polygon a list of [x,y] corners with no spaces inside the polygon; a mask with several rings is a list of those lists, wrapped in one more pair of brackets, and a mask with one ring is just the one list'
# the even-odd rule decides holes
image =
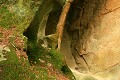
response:
{"label": "dark green moss mound directly below the base of the thin brown trunk", "polygon": [[59,70],[61,70],[62,66],[64,65],[63,55],[55,49],[46,50],[42,47],[37,46],[34,48],[29,48],[27,53],[32,64],[40,64],[41,59],[47,63],[51,63],[55,68]]}

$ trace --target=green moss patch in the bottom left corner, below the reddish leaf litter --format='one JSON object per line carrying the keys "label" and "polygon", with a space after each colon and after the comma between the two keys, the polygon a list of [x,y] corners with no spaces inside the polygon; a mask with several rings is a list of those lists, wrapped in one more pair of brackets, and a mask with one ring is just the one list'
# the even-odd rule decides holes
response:
{"label": "green moss patch in the bottom left corner, below the reddish leaf litter", "polygon": [[18,58],[14,49],[5,54],[7,60],[0,62],[0,80],[49,80],[45,69],[37,66],[30,66],[25,58]]}

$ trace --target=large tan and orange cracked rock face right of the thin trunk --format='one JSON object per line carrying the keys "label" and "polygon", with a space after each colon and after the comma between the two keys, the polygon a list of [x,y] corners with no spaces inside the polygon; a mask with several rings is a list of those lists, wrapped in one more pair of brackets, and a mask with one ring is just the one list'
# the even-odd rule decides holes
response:
{"label": "large tan and orange cracked rock face right of the thin trunk", "polygon": [[[68,53],[65,52],[67,46],[61,50],[66,62],[68,56],[73,55],[71,63],[67,62],[68,66],[74,74],[79,74],[78,80],[88,80],[88,76],[90,80],[119,80],[120,1],[81,0],[72,8],[74,16],[64,31],[69,38],[63,37],[62,43],[70,43],[70,49]],[[72,63],[74,66],[71,66]]]}

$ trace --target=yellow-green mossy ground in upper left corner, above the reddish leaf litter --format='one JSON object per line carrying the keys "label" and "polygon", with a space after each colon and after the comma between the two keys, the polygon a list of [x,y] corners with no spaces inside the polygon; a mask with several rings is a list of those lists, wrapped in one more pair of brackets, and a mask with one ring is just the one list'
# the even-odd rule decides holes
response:
{"label": "yellow-green mossy ground in upper left corner, above the reddish leaf litter", "polygon": [[[30,1],[25,1],[22,6],[18,5],[21,0],[0,0],[0,27],[11,28],[17,26],[18,29],[23,31],[32,20],[36,9],[31,9]],[[38,5],[37,5],[38,7]]]}

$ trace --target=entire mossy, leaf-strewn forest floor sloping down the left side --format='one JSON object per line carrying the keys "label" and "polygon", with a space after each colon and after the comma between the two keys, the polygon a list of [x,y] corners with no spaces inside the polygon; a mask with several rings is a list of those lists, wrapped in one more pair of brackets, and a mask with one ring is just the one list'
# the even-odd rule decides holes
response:
{"label": "entire mossy, leaf-strewn forest floor sloping down the left side", "polygon": [[73,75],[63,68],[63,56],[56,50],[37,47],[30,61],[23,32],[38,5],[31,9],[15,1],[0,4],[0,80],[71,80]]}

